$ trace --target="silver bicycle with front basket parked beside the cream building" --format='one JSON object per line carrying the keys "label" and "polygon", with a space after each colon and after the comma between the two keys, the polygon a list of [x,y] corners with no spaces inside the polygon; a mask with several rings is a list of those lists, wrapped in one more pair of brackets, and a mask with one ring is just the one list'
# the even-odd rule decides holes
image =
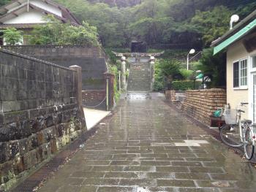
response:
{"label": "silver bicycle with front basket parked beside the cream building", "polygon": [[[244,106],[248,103],[242,103],[239,106]],[[229,109],[225,110],[223,116],[225,125],[219,128],[219,136],[226,145],[230,147],[243,147],[244,153],[248,160],[251,160],[255,152],[255,125],[252,125],[252,120],[241,120],[241,113],[244,110]]]}

